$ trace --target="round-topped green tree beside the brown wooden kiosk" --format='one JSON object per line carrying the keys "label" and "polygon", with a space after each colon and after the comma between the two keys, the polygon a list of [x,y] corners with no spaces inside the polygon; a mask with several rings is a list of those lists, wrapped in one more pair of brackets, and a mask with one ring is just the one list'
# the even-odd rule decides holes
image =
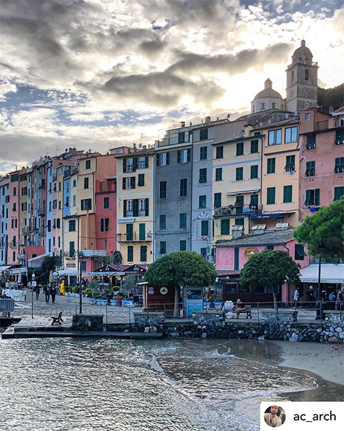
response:
{"label": "round-topped green tree beside the brown wooden kiosk", "polygon": [[174,316],[178,316],[181,286],[215,283],[213,265],[196,252],[172,252],[153,262],[144,277],[153,287],[175,289]]}

